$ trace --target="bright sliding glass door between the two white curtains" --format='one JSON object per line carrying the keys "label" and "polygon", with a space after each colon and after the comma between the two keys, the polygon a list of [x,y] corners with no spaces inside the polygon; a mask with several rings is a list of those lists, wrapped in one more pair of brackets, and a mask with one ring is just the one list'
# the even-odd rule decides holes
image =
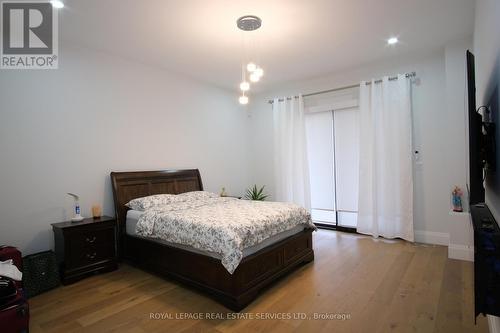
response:
{"label": "bright sliding glass door between the two white curtains", "polygon": [[358,108],[306,115],[312,218],[356,228],[358,210]]}

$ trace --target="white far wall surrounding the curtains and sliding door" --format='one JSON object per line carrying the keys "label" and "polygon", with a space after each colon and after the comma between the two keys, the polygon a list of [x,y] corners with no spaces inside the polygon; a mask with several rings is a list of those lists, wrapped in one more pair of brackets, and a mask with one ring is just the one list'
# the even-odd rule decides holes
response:
{"label": "white far wall surrounding the curtains and sliding door", "polygon": [[[465,186],[465,152],[463,140],[465,112],[465,73],[463,63],[453,62],[454,52],[465,61],[470,41],[453,43],[453,48],[440,49],[404,58],[366,65],[357,69],[303,80],[270,89],[253,98],[250,133],[255,156],[252,182],[266,184],[273,192],[272,112],[268,99],[298,93],[321,91],[351,85],[361,80],[416,71],[413,85],[414,146],[420,151],[422,164],[415,165],[415,229],[419,241],[448,245],[448,224],[452,218],[450,193],[452,186]],[[459,50],[459,51],[457,51]],[[447,62],[447,59],[449,61]],[[451,79],[447,71],[457,71],[462,79],[448,91]],[[457,100],[448,107],[447,102]],[[460,101],[460,102],[458,102]]]}

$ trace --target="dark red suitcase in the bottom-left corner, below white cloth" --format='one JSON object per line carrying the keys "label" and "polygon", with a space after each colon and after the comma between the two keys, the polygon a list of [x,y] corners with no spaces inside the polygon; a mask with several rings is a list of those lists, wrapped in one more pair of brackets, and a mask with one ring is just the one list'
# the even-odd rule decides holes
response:
{"label": "dark red suitcase in the bottom-left corner, below white cloth", "polygon": [[0,328],[2,333],[24,333],[29,331],[29,305],[21,289],[13,280],[2,279],[0,299]]}

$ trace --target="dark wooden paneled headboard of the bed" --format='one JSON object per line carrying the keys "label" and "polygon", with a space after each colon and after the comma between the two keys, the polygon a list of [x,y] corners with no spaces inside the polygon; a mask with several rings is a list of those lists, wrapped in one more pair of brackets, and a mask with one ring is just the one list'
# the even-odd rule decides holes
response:
{"label": "dark wooden paneled headboard of the bed", "polygon": [[153,194],[179,194],[203,190],[198,169],[112,172],[111,184],[113,186],[119,240],[125,233],[125,221],[128,211],[125,204],[130,200]]}

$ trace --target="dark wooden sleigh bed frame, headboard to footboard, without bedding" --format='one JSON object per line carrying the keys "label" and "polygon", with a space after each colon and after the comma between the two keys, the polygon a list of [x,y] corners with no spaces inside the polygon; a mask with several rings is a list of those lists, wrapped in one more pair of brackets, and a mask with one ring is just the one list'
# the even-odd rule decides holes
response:
{"label": "dark wooden sleigh bed frame, headboard to footboard, without bedding", "polygon": [[128,235],[127,202],[153,194],[201,191],[200,172],[197,169],[112,172],[111,181],[120,259],[206,292],[231,310],[242,310],[273,281],[314,260],[311,229],[244,257],[232,275],[213,257]]}

